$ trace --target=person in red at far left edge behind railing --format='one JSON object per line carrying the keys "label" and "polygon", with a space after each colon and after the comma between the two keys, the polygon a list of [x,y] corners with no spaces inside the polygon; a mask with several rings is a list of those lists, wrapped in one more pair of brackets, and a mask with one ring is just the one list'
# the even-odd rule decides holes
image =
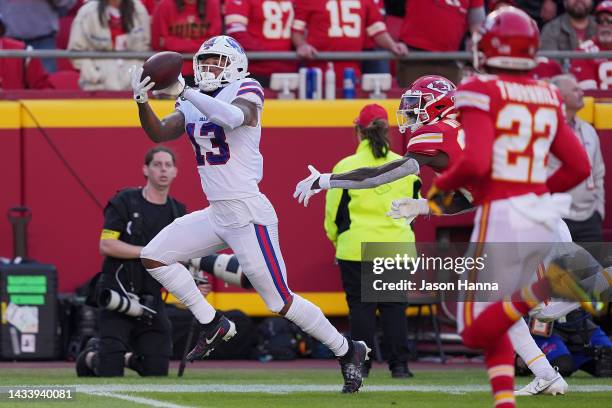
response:
{"label": "person in red at far left edge behind railing", "polygon": [[[0,49],[23,50],[25,43],[4,36],[6,27],[0,14]],[[30,47],[31,48],[31,47]],[[40,59],[0,58],[0,90],[49,89],[53,85]]]}

